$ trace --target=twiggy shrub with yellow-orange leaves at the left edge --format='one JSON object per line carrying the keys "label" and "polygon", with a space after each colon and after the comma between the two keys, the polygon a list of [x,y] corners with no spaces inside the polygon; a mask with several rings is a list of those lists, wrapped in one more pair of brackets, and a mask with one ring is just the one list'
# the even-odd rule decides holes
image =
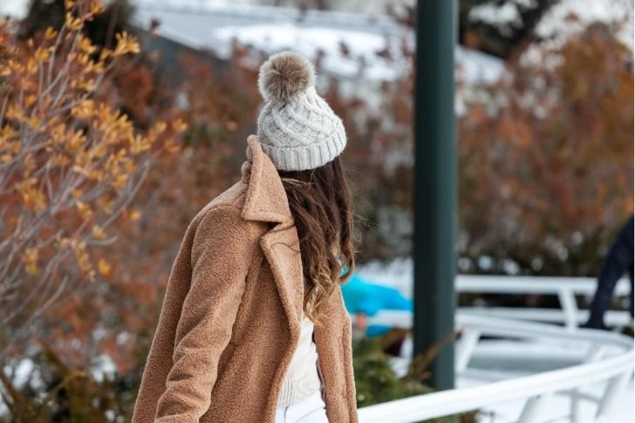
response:
{"label": "twiggy shrub with yellow-orange leaves at the left edge", "polygon": [[69,293],[109,276],[99,250],[116,242],[110,227],[138,219],[128,204],[152,157],[184,129],[138,130],[105,101],[114,68],[140,47],[125,32],[112,49],[83,35],[99,1],[66,1],[66,12],[59,31],[25,41],[0,26],[0,357]]}

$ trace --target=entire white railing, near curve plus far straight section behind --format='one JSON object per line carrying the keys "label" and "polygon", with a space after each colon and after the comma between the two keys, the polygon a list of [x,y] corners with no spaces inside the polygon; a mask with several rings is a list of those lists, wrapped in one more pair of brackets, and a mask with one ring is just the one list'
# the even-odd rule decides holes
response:
{"label": "entire white railing, near curve plus far straight section behind", "polygon": [[[550,398],[555,395],[569,396],[570,420],[579,422],[581,400],[579,388],[588,384],[602,383],[605,383],[602,396],[591,398],[597,403],[593,420],[598,423],[615,422],[613,417],[617,399],[633,377],[634,344],[632,338],[619,333],[575,329],[580,321],[580,310],[577,309],[574,295],[592,295],[595,290],[593,280],[462,276],[457,278],[456,288],[459,292],[558,295],[564,311],[561,312],[560,319],[557,321],[566,324],[563,328],[514,320],[509,317],[506,319],[485,317],[478,315],[478,312],[461,310],[456,314],[456,326],[461,329],[461,339],[456,345],[457,376],[468,371],[473,353],[483,337],[512,338],[516,341],[527,342],[528,345],[535,344],[537,341],[574,343],[578,350],[586,348],[583,358],[579,364],[550,372],[363,407],[358,411],[361,423],[420,422],[512,400],[525,401],[518,419],[519,423],[545,422],[547,419],[544,415],[545,407]],[[620,281],[616,291],[617,295],[629,292],[628,281]],[[578,318],[574,319],[572,317],[574,315]],[[409,328],[411,319],[409,313],[381,312],[377,314],[377,317],[369,319],[369,323]]]}

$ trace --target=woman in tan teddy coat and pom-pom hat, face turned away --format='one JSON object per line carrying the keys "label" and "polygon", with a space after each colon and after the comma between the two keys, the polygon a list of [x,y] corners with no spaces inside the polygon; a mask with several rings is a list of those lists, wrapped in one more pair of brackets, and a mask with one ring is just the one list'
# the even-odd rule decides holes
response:
{"label": "woman in tan teddy coat and pom-pom hat, face turned away", "polygon": [[357,422],[346,133],[313,80],[290,52],[260,68],[258,137],[188,226],[133,422]]}

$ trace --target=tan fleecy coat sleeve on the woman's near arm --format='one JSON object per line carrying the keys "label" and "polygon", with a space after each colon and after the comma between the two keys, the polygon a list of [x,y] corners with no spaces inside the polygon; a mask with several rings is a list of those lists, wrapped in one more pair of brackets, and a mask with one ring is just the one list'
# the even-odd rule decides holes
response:
{"label": "tan fleecy coat sleeve on the woman's near arm", "polygon": [[198,423],[210,407],[219,357],[231,339],[258,238],[256,223],[244,221],[234,206],[215,207],[201,219],[155,423]]}

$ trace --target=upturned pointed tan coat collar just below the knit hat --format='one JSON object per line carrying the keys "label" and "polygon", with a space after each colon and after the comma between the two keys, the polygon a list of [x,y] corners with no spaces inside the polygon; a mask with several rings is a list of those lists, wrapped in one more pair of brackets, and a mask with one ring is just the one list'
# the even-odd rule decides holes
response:
{"label": "upturned pointed tan coat collar just below the knit hat", "polygon": [[262,151],[255,135],[247,138],[247,161],[243,163],[243,182],[247,195],[243,206],[243,219],[274,223],[293,221],[289,200],[277,169]]}

